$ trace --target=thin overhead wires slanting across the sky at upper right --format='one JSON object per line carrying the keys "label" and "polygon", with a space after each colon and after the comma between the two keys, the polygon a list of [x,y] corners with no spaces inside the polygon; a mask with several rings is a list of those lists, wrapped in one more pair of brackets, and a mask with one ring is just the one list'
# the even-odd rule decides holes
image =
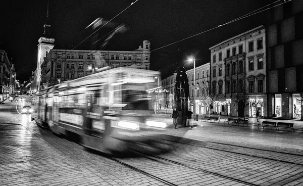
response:
{"label": "thin overhead wires slanting across the sky at upper right", "polygon": [[[209,31],[212,31],[212,30],[214,30],[214,29],[216,29],[216,28],[219,28],[219,27],[225,26],[225,25],[230,24],[230,23],[233,23],[233,22],[235,22],[235,21],[239,21],[239,20],[241,20],[241,19],[247,18],[247,17],[252,16],[252,15],[255,15],[255,14],[259,14],[259,13],[261,13],[261,12],[264,12],[264,11],[266,11],[266,10],[269,10],[269,9],[272,9],[272,8],[274,8],[274,7],[277,7],[277,6],[280,6],[280,5],[283,5],[283,4],[284,4],[284,3],[281,3],[281,4],[275,5],[275,6],[273,6],[273,7],[270,7],[270,8],[264,9],[264,8],[266,8],[266,7],[268,7],[268,6],[271,6],[271,5],[273,5],[273,4],[275,4],[275,3],[279,2],[279,1],[280,1],[280,0],[275,1],[274,3],[268,4],[268,5],[266,5],[266,6],[262,7],[262,8],[260,8],[260,9],[257,9],[257,10],[255,10],[255,11],[252,11],[252,12],[248,13],[248,14],[245,14],[245,15],[243,15],[243,16],[240,16],[240,17],[238,17],[238,18],[236,18],[236,19],[234,19],[234,20],[231,20],[231,21],[229,21],[229,22],[227,22],[227,23],[224,23],[224,24],[222,24],[222,25],[219,25],[219,26],[216,26],[216,27],[214,27],[214,28],[211,28],[211,29],[205,30],[205,31],[203,31],[203,32],[200,32],[200,33],[197,33],[197,34],[191,35],[191,36],[186,37],[186,38],[183,38],[183,39],[180,39],[180,40],[175,41],[175,42],[172,42],[172,43],[170,43],[170,44],[167,44],[167,45],[161,46],[160,48],[155,49],[155,50],[151,50],[150,52],[154,52],[154,51],[157,51],[157,50],[163,49],[163,48],[165,48],[165,47],[167,47],[167,46],[173,45],[173,44],[178,43],[178,42],[181,42],[181,41],[183,41],[183,40],[186,40],[186,39],[189,39],[189,38],[195,37],[195,36],[197,36],[197,35],[200,35],[200,34],[203,34],[203,33],[209,32]],[[264,9],[264,10],[259,11],[259,10],[261,10],[261,9]],[[259,12],[256,12],[256,11],[259,11]]]}

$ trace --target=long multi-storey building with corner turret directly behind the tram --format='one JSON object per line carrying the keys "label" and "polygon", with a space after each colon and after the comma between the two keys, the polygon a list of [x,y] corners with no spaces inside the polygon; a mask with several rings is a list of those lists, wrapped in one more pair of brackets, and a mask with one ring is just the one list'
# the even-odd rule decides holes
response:
{"label": "long multi-storey building with corner turret directly behind the tram", "polygon": [[[41,88],[83,77],[104,67],[149,70],[150,42],[134,51],[50,50],[41,64]],[[37,74],[38,75],[38,74]],[[38,83],[38,79],[37,83]]]}

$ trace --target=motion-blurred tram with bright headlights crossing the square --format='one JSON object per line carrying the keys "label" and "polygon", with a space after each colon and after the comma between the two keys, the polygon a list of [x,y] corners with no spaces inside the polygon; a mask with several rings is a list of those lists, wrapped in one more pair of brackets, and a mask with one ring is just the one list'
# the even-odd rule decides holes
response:
{"label": "motion-blurred tram with bright headlights crossing the square", "polygon": [[42,89],[33,95],[32,119],[57,134],[78,134],[97,151],[148,146],[167,126],[148,93],[158,86],[155,77],[160,72],[114,68]]}

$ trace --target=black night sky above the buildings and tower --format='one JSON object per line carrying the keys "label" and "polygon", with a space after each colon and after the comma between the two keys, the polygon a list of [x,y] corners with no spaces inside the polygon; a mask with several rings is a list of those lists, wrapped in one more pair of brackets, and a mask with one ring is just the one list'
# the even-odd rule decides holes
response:
{"label": "black night sky above the buildings and tower", "polygon": [[[90,42],[91,38],[85,40],[89,33],[85,28],[92,21],[98,17],[110,20],[133,2],[135,0],[49,0],[54,49],[69,49],[71,45]],[[218,27],[272,2],[138,0],[113,20],[118,24],[126,24],[129,29],[113,37],[107,49],[133,51],[142,45],[143,40],[150,40],[150,70],[160,70],[166,77],[181,66],[185,69],[193,68],[192,64],[186,62],[189,56],[196,58],[197,66],[208,63],[211,60],[211,46],[249,29],[266,25],[267,11]],[[6,50],[9,58],[12,58],[17,79],[28,80],[31,71],[36,69],[37,44],[46,22],[47,0],[6,1],[1,8],[0,49]],[[166,46],[215,27],[206,33]],[[100,30],[99,34],[106,32],[106,29]]]}

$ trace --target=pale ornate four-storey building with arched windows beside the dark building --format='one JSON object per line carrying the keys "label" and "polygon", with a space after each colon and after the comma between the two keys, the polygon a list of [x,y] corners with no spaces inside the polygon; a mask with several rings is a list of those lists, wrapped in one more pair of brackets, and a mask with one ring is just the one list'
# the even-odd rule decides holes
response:
{"label": "pale ornate four-storey building with arched windows beside the dark building", "polygon": [[259,26],[210,48],[213,113],[267,117],[266,33]]}

